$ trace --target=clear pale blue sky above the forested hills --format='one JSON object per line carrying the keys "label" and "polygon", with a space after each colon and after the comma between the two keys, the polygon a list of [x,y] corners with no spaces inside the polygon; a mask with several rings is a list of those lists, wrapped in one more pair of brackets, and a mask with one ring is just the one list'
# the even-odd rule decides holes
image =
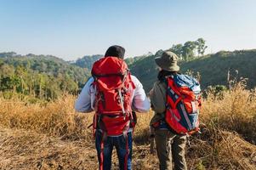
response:
{"label": "clear pale blue sky above the forested hills", "polygon": [[0,0],[0,52],[65,60],[155,53],[203,37],[208,53],[256,48],[255,0]]}

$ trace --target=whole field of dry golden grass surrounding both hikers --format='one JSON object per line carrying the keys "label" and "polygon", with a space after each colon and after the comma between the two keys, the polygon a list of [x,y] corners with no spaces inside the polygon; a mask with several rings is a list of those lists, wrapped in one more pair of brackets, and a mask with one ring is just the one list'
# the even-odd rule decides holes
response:
{"label": "whole field of dry golden grass surrounding both hikers", "polygon": [[[191,138],[190,169],[256,169],[255,93],[236,85],[221,97],[203,101],[202,134]],[[93,114],[76,113],[74,96],[47,105],[0,97],[0,169],[96,169]],[[138,114],[134,132],[134,169],[157,169],[150,154],[152,112]],[[246,140],[245,140],[246,139]],[[117,155],[113,156],[117,169]]]}

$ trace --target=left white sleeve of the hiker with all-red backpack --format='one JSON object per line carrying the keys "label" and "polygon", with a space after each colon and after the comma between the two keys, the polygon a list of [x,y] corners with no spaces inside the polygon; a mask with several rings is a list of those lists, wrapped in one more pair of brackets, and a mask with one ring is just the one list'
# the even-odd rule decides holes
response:
{"label": "left white sleeve of the hiker with all-red backpack", "polygon": [[92,98],[91,98],[91,95],[94,95],[92,93],[92,87],[91,87],[91,84],[93,82],[94,82],[94,78],[92,77],[89,78],[88,82],[86,82],[86,84],[82,88],[82,92],[81,94],[79,94],[75,104],[76,111],[84,112],[84,113],[94,111],[94,109],[91,106],[92,102],[94,102],[92,101]]}

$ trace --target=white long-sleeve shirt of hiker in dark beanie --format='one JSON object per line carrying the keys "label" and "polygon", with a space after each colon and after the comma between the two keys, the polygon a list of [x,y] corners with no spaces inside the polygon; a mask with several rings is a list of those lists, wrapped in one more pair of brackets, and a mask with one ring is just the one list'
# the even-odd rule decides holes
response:
{"label": "white long-sleeve shirt of hiker in dark beanie", "polygon": [[[135,89],[132,91],[132,108],[134,111],[146,112],[151,108],[149,99],[145,95],[142,84],[137,77],[132,76]],[[91,112],[94,111],[94,99],[96,90],[91,84],[94,82],[94,78],[89,78],[85,86],[82,88],[81,94],[78,96],[75,104],[76,111],[79,112]]]}

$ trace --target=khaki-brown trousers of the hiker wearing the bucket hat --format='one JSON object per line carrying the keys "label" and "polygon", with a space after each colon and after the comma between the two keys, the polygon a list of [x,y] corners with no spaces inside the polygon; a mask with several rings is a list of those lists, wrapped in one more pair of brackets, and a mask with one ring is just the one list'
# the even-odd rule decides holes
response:
{"label": "khaki-brown trousers of the hiker wearing the bucket hat", "polygon": [[156,150],[160,170],[187,170],[185,162],[185,135],[171,133],[167,129],[156,129]]}

